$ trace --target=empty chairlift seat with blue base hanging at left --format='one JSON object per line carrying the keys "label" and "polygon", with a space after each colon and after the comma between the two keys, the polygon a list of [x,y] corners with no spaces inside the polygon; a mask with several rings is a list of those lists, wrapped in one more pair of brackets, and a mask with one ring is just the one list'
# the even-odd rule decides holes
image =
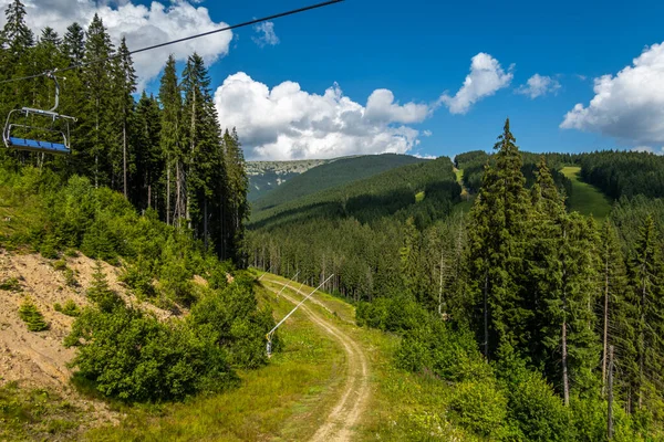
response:
{"label": "empty chairlift seat with blue base hanging at left", "polygon": [[[49,154],[71,152],[70,122],[75,123],[76,118],[55,112],[60,104],[60,84],[54,71],[45,73],[45,76],[55,83],[55,105],[49,110],[32,107],[10,110],[2,130],[2,141],[7,148]],[[23,123],[19,123],[21,117]]]}

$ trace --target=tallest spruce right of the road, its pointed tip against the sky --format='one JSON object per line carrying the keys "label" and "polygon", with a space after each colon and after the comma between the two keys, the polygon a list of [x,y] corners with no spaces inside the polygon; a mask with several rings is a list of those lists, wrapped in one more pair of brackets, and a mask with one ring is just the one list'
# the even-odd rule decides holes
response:
{"label": "tallest spruce right of the road, its pointed tip against the sky", "polygon": [[483,350],[520,349],[529,341],[530,312],[525,308],[522,278],[523,232],[529,217],[521,155],[509,118],[495,145],[495,165],[485,167],[483,185],[471,212],[470,265],[479,297]]}

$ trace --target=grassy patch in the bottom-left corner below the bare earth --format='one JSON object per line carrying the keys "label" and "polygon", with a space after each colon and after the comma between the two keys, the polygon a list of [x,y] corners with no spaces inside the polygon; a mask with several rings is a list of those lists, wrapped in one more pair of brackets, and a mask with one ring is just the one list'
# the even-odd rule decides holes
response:
{"label": "grassy patch in the bottom-left corner below the bare earth", "polygon": [[41,389],[22,389],[15,382],[0,387],[0,440],[75,439],[85,415],[62,398]]}

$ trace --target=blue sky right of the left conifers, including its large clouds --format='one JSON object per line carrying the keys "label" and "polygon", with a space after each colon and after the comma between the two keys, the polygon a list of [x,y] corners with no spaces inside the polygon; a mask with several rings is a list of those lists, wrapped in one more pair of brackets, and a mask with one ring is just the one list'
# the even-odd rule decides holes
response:
{"label": "blue sky right of the left conifers, including its large clouds", "polygon": [[[0,6],[6,1],[0,0]],[[37,0],[37,12],[71,1]],[[111,3],[110,8],[125,3]],[[148,2],[133,2],[141,3],[151,8]],[[164,8],[181,4],[165,3]],[[305,0],[208,0],[190,7],[209,14],[214,24],[305,4]],[[98,2],[94,7],[101,8]],[[228,86],[217,91],[220,119],[238,126],[249,158],[381,150],[453,156],[489,149],[507,116],[518,144],[530,151],[635,147],[660,151],[664,127],[658,118],[643,115],[655,109],[655,116],[664,117],[664,49],[650,48],[664,41],[662,17],[661,1],[346,0],[274,21],[273,44],[257,44],[255,39],[264,36],[258,29],[238,30],[226,46],[209,50],[207,60],[214,61],[214,90],[228,80]],[[187,50],[205,53],[215,39],[218,36],[197,41]],[[132,39],[127,40],[132,45]],[[141,44],[141,38],[134,42]],[[645,67],[616,76],[644,51]],[[470,74],[471,59],[480,53],[499,64],[500,86],[480,94],[465,113],[454,114],[452,97]],[[516,93],[535,74],[550,77],[550,85],[558,86],[536,98]],[[605,78],[604,99],[591,108],[590,102],[598,95],[593,81],[605,74],[612,77]],[[272,88],[284,82],[289,83],[279,90],[281,98],[273,97]],[[154,90],[155,81],[146,84]],[[338,88],[325,95],[335,84]],[[381,93],[376,97],[382,99],[374,106],[377,110],[372,110],[377,116],[369,118],[367,99],[376,90],[388,90],[394,96],[392,104],[412,103],[415,107],[396,106],[377,115],[376,106],[391,104]],[[446,92],[448,99],[440,99]],[[561,128],[566,114],[578,103],[584,110],[568,122],[569,128]],[[361,115],[357,118],[369,119],[357,123],[351,118],[354,112]],[[430,136],[426,136],[428,131]],[[394,139],[398,143],[392,143]]]}

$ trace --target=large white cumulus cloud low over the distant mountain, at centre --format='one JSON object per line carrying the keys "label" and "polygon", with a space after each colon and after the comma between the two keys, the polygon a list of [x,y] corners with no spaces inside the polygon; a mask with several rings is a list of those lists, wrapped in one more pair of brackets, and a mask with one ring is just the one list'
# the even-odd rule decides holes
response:
{"label": "large white cumulus cloud low over the distant mountain, at centre", "polygon": [[424,105],[395,103],[386,90],[374,91],[363,106],[344,96],[338,84],[323,95],[302,91],[294,82],[270,90],[243,72],[224,81],[215,103],[221,126],[237,127],[251,159],[405,154],[417,145],[419,131],[404,124],[429,114]]}

